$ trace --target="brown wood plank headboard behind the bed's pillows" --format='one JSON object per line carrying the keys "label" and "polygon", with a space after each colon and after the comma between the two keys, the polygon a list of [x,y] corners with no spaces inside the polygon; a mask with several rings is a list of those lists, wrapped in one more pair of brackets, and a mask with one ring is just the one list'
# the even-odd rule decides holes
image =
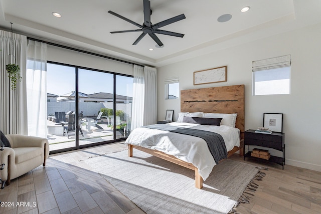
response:
{"label": "brown wood plank headboard behind the bed's pillows", "polygon": [[237,113],[235,127],[244,139],[244,85],[181,91],[181,112]]}

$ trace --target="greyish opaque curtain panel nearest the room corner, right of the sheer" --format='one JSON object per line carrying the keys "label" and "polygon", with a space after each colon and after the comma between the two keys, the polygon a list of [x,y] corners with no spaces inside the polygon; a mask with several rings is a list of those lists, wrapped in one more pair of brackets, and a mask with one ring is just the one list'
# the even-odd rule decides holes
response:
{"label": "greyish opaque curtain panel nearest the room corner, right of the sheer", "polygon": [[144,67],[144,125],[157,122],[157,73],[155,68]]}

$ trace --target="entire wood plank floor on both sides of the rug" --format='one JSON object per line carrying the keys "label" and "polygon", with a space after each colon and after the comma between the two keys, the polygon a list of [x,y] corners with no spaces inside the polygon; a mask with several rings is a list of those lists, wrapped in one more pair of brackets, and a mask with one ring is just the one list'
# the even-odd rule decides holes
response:
{"label": "entire wood plank floor on both sides of the rug", "polygon": [[[51,155],[46,167],[39,166],[0,190],[1,201],[14,202],[0,206],[0,213],[144,213],[83,161],[123,149],[120,142]],[[243,161],[237,154],[230,158]],[[256,182],[259,187],[250,203],[241,203],[237,213],[321,213],[321,172],[245,162],[269,170]]]}

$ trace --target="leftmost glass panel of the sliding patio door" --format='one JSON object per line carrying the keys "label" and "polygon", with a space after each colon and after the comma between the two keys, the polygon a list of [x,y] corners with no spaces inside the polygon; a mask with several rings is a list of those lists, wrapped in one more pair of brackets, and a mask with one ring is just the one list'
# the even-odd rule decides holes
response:
{"label": "leftmost glass panel of the sliding patio door", "polygon": [[72,133],[75,132],[75,126],[72,127],[76,112],[75,78],[75,67],[47,63],[47,128],[51,151],[76,147]]}

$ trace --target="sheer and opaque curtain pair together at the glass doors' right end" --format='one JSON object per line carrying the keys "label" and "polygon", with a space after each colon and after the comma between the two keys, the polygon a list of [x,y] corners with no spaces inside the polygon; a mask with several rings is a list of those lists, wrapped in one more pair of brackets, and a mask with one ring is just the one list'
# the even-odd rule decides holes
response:
{"label": "sheer and opaque curtain pair together at the glass doors' right end", "polygon": [[134,65],[131,130],[157,121],[156,69]]}

